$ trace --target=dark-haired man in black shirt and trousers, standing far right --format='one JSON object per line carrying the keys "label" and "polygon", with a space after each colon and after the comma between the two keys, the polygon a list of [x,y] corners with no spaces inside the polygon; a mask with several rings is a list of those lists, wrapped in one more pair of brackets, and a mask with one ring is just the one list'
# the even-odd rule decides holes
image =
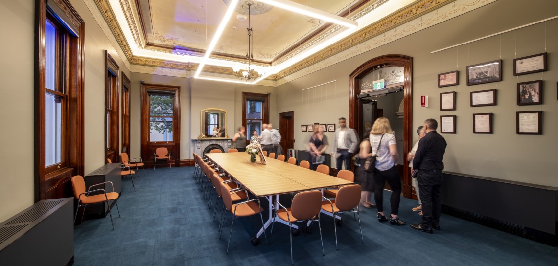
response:
{"label": "dark-haired man in black shirt and trousers, standing far right", "polygon": [[423,127],[426,129],[426,135],[420,139],[413,159],[413,169],[419,171],[416,178],[422,201],[422,224],[412,224],[411,227],[432,234],[432,229],[440,230],[440,187],[443,181],[444,153],[448,143],[436,132],[438,122],[435,119],[426,119]]}

